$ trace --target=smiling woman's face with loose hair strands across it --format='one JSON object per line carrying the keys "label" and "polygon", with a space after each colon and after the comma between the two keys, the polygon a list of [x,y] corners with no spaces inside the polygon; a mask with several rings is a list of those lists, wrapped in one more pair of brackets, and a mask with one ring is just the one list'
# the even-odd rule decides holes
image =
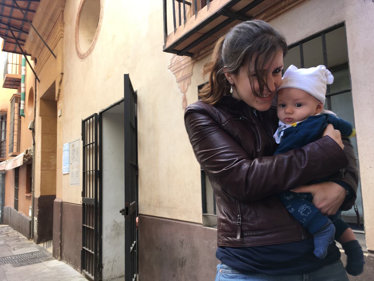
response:
{"label": "smiling woman's face with loose hair strands across it", "polygon": [[[264,88],[263,95],[260,97],[260,88],[258,81],[253,74],[254,90],[256,95],[252,92],[251,83],[248,77],[248,67],[242,66],[237,75],[225,73],[229,82],[233,85],[234,93],[232,96],[237,100],[243,100],[247,105],[258,111],[266,111],[270,108],[272,100],[275,96],[277,88],[282,82],[282,69],[283,69],[283,52],[278,51],[273,61],[269,61],[263,69],[267,73],[265,79],[270,91]],[[253,71],[254,73],[254,71]]]}

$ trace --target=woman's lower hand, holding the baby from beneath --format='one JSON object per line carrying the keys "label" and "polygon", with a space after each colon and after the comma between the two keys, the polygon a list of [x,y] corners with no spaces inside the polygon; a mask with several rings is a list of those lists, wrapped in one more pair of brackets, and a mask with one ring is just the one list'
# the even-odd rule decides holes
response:
{"label": "woman's lower hand, holding the baby from beneath", "polygon": [[312,193],[312,203],[323,215],[327,216],[336,214],[347,195],[344,187],[332,181],[302,185],[291,191]]}

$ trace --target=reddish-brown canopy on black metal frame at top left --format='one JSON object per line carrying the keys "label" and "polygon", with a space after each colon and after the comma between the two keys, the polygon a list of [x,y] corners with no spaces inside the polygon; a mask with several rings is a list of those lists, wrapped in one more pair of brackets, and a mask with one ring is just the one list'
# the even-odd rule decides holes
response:
{"label": "reddish-brown canopy on black metal frame at top left", "polygon": [[40,0],[16,0],[16,2],[22,11],[19,10],[15,1],[0,0],[0,37],[4,39],[2,51],[22,54],[13,34],[17,38],[19,45],[27,53],[27,50],[24,49],[27,34],[30,30],[30,24],[27,19],[30,22],[33,21]]}

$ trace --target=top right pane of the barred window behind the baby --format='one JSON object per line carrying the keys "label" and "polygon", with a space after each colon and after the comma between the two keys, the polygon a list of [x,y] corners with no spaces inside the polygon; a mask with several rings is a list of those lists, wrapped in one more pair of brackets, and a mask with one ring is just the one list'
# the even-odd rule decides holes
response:
{"label": "top right pane of the barred window behind the baby", "polygon": [[326,50],[328,66],[348,61],[346,30],[344,27],[326,33]]}

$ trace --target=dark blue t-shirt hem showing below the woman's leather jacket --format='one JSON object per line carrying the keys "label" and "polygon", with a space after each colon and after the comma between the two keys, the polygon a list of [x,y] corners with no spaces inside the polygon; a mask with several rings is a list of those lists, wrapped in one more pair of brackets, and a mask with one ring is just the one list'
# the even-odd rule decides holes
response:
{"label": "dark blue t-shirt hem showing below the woman's leather jacket", "polygon": [[340,259],[335,242],[329,245],[324,259],[318,259],[313,250],[313,238],[310,238],[275,245],[218,247],[215,256],[239,272],[274,276],[306,274]]}

